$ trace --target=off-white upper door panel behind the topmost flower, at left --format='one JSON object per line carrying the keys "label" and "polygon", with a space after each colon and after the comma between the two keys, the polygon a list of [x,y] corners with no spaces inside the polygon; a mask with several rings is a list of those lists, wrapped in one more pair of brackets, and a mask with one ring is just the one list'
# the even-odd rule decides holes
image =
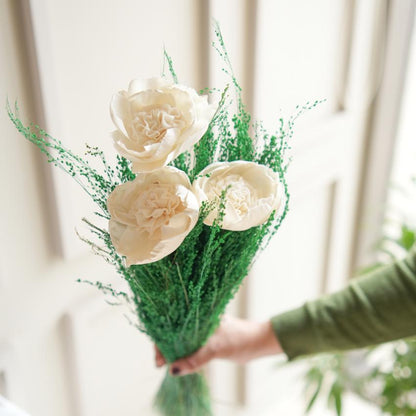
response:
{"label": "off-white upper door panel behind the topmost flower, at left", "polygon": [[[46,127],[78,154],[86,142],[114,153],[111,96],[132,79],[160,76],[164,47],[180,81],[199,88],[196,3],[191,0],[30,4]],[[73,257],[85,252],[73,238],[74,228],[94,206],[65,174],[54,169],[52,175],[63,253]]]}

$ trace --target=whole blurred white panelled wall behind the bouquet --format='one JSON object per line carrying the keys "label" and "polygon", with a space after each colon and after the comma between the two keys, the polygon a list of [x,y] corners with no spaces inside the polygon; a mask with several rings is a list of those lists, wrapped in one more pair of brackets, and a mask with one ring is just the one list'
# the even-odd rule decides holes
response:
{"label": "whole blurred white panelled wall behind the bouquet", "polygon": [[[342,287],[372,259],[392,156],[395,175],[415,161],[405,143],[414,152],[415,78],[406,78],[414,7],[413,0],[0,0],[0,102],[17,100],[24,120],[77,152],[88,142],[110,153],[111,95],[133,78],[160,75],[164,46],[181,83],[225,85],[210,46],[213,18],[248,108],[269,130],[297,104],[326,99],[296,123],[289,217],[230,306],[267,319]],[[75,235],[91,211],[87,198],[24,142],[5,110],[0,132],[0,395],[33,416],[152,415],[163,370],[154,367],[151,343],[100,293],[75,283],[121,284]],[[282,361],[211,365],[215,414],[303,414],[302,362],[278,367]],[[345,414],[362,406],[351,400]]]}

